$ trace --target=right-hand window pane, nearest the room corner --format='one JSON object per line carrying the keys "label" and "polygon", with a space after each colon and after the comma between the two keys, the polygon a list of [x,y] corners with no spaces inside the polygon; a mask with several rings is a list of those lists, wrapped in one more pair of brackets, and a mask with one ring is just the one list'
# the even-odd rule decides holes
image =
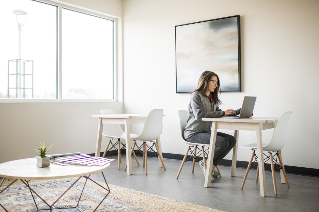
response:
{"label": "right-hand window pane, nearest the room corner", "polygon": [[113,21],[62,9],[62,98],[113,99]]}

